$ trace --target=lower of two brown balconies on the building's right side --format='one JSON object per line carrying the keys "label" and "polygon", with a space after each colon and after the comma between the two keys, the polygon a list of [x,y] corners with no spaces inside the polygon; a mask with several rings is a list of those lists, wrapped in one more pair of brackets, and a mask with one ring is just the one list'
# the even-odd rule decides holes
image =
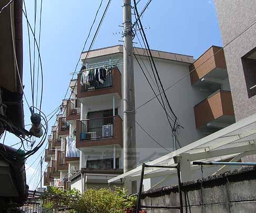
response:
{"label": "lower of two brown balconies on the building's right side", "polygon": [[218,90],[194,106],[197,129],[219,130],[235,122],[231,92]]}

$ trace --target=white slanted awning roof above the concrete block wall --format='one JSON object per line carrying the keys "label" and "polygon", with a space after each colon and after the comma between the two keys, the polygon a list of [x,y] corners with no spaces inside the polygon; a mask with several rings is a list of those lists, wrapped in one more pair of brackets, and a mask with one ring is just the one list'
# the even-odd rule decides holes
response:
{"label": "white slanted awning roof above the concrete block wall", "polygon": [[[218,132],[210,134],[202,139],[193,142],[187,146],[179,148],[174,152],[159,157],[154,161],[147,162],[147,165],[176,165],[175,159],[185,156],[186,162],[180,161],[181,173],[182,168],[186,173],[200,169],[198,165],[192,165],[193,161],[224,161],[231,159],[237,162],[243,156],[256,153],[256,114],[234,123]],[[176,160],[177,161],[177,160]],[[183,164],[183,165],[182,165]],[[219,167],[216,167],[219,169]],[[227,171],[228,166],[223,166],[216,170],[216,174]],[[139,180],[141,174],[141,165],[135,169],[108,180],[108,183],[116,182],[120,179]],[[144,178],[165,177],[177,175],[176,169],[170,168],[145,168]],[[182,176],[182,175],[181,175]]]}

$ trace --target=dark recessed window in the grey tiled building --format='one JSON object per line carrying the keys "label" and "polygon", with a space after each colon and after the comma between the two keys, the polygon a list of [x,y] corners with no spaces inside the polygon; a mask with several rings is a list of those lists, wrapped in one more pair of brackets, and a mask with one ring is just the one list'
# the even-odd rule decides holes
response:
{"label": "dark recessed window in the grey tiled building", "polygon": [[242,65],[248,97],[256,94],[256,48],[242,57]]}

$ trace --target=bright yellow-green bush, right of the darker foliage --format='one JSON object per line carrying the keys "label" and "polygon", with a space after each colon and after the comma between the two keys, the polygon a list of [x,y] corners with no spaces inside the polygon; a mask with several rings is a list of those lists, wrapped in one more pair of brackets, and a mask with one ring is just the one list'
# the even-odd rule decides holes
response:
{"label": "bright yellow-green bush, right of the darker foliage", "polygon": [[77,213],[125,213],[136,201],[137,196],[126,196],[122,188],[88,189],[73,208]]}

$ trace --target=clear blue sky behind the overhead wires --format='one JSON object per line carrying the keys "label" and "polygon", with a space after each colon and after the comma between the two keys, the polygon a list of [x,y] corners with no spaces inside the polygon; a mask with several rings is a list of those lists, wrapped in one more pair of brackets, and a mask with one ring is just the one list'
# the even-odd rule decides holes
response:
{"label": "clear blue sky behind the overhead wires", "polygon": [[[25,3],[29,22],[34,26],[34,1],[25,1]],[[39,3],[38,0],[36,31],[39,29]],[[64,98],[71,78],[69,73],[74,71],[99,3],[100,0],[43,1],[40,55],[44,73],[42,110],[45,114],[52,112]],[[122,1],[112,0],[93,49],[121,44],[118,41],[122,40],[121,35],[118,34],[122,30],[121,27],[118,27],[122,24],[121,3]],[[138,4],[139,10],[146,3],[146,0],[141,0]],[[107,0],[103,0],[103,6],[91,35],[96,30],[106,4]],[[145,31],[152,49],[192,55],[194,59],[197,59],[211,45],[222,46],[216,8],[212,0],[153,0],[142,16],[142,24],[147,27]],[[32,104],[25,17],[23,19],[23,34],[25,94],[29,104]],[[36,37],[38,39],[38,31]],[[85,50],[88,45],[89,42]],[[31,47],[33,49],[33,44]],[[24,110],[25,124],[28,124],[30,114],[25,103]],[[52,124],[53,122],[49,123],[49,128]],[[13,145],[17,142],[19,141],[15,136],[7,133],[5,144]],[[27,170],[27,180],[37,169],[40,158],[38,155],[43,152],[44,147],[45,145],[35,155],[28,158],[26,167],[35,160],[36,162]],[[44,164],[43,171],[45,167],[46,164]],[[29,183],[29,188],[34,189],[38,180],[39,172],[36,172],[35,177]]]}

